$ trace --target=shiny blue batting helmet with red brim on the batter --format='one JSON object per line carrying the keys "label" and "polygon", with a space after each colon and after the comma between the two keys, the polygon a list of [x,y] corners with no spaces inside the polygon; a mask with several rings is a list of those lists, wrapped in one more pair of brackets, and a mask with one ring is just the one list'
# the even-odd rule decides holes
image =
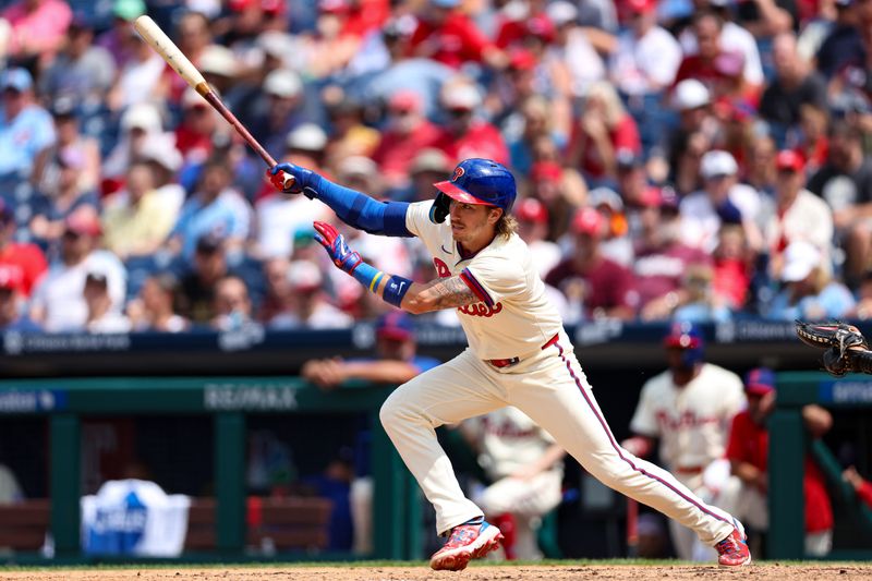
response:
{"label": "shiny blue batting helmet with red brim on the batter", "polygon": [[511,172],[491,159],[464,159],[457,165],[450,180],[433,185],[451,199],[502,208],[506,214],[511,211],[518,194]]}

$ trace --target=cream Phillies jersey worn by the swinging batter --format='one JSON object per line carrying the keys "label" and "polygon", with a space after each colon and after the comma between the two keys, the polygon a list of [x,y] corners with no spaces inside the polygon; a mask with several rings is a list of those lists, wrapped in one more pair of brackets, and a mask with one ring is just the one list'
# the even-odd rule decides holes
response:
{"label": "cream Phillies jersey worn by the swinging batter", "polygon": [[[533,353],[562,329],[557,308],[545,299],[545,283],[520,237],[497,237],[471,258],[462,258],[451,237],[450,217],[429,219],[432,202],[411,204],[405,227],[433,254],[443,278],[459,275],[480,303],[457,310],[470,348],[479,359],[511,359]],[[498,323],[498,324],[495,324]]]}

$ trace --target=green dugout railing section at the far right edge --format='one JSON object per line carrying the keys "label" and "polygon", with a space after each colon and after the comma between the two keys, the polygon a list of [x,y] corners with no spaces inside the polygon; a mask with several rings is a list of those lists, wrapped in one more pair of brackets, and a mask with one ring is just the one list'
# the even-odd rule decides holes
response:
{"label": "green dugout railing section at the far right edge", "polygon": [[[872,531],[872,510],[863,506],[841,480],[841,467],[826,446],[811,441],[802,422],[802,407],[818,403],[828,409],[872,410],[872,378],[850,375],[834,378],[820,372],[783,372],[777,375],[778,397],[770,420],[770,538],[771,559],[806,559],[802,476],[810,453],[824,473],[831,496],[844,504],[848,518]],[[870,560],[872,547],[838,549],[825,558]]]}

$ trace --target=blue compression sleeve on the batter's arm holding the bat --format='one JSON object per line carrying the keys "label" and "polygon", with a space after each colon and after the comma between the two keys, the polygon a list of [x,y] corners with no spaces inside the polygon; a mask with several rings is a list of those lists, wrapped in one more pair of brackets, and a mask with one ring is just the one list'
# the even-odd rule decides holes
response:
{"label": "blue compression sleeve on the batter's arm holding the bat", "polygon": [[312,183],[303,190],[308,197],[320,199],[347,225],[371,234],[411,238],[405,228],[405,202],[376,202],[372,197],[313,175]]}

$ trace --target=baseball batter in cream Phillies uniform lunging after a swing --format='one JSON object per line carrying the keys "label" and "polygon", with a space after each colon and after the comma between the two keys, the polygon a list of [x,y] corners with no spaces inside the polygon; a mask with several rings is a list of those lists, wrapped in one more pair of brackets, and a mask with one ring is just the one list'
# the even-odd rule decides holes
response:
{"label": "baseball batter in cream Phillies uniform lunging after a swing", "polygon": [[[412,204],[376,202],[292,164],[268,174],[282,191],[327,204],[351,227],[419,237],[439,277],[425,283],[377,270],[334,227],[315,222],[334,264],[385,302],[413,314],[458,311],[469,348],[401,385],[380,411],[385,431],[436,509],[437,532],[448,537],[431,557],[433,569],[461,570],[496,549],[502,536],[463,495],[434,429],[504,406],[529,415],[606,485],[692,529],[716,547],[720,565],[751,561],[738,520],[618,445],[514,232],[509,213],[517,192],[508,169],[488,159],[463,160],[450,180],[434,184],[433,202]],[[282,187],[288,175],[293,183]]]}

